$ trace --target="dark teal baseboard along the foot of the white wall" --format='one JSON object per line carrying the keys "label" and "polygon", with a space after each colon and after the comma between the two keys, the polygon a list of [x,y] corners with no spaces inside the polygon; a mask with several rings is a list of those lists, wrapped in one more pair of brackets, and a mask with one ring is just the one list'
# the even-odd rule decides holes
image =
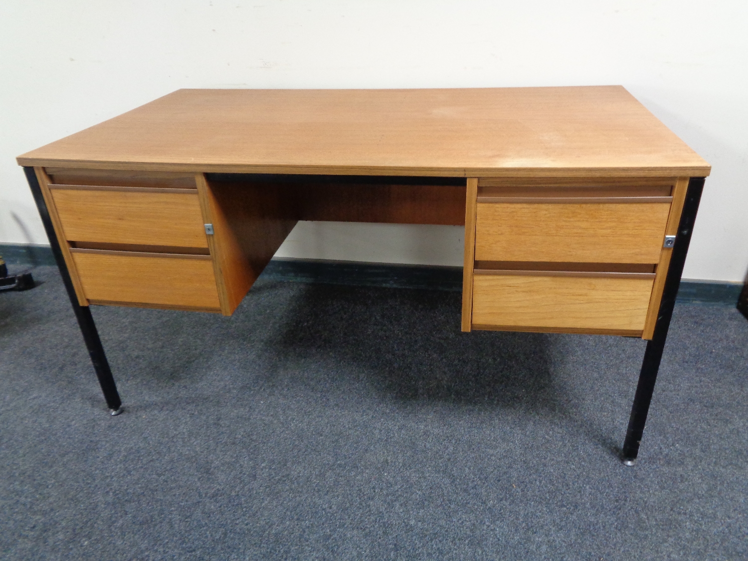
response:
{"label": "dark teal baseboard along the foot of the white wall", "polygon": [[[5,262],[11,266],[55,265],[49,245],[0,244],[0,257],[3,257]],[[451,292],[462,290],[462,267],[274,259],[263,272],[263,278],[301,283],[384,286]],[[742,289],[742,283],[681,281],[678,303],[735,306]]]}

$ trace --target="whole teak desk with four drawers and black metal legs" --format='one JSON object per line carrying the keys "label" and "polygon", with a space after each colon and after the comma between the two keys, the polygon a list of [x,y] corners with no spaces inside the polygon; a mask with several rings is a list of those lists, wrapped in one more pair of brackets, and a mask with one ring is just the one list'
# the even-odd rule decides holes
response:
{"label": "whole teak desk with four drawers and black metal legs", "polygon": [[90,304],[221,312],[298,220],[465,224],[462,330],[649,340],[633,465],[710,166],[620,86],[180,90],[18,158]]}

